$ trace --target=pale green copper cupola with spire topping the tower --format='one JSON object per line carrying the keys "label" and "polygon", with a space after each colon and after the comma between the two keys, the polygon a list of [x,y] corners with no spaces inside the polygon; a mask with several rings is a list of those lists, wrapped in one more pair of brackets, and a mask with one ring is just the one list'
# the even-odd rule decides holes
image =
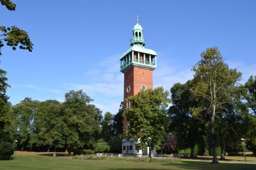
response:
{"label": "pale green copper cupola with spire topping the tower", "polygon": [[143,38],[143,29],[141,25],[139,25],[139,19],[137,16],[137,24],[133,27],[133,39],[130,40],[130,45],[139,45],[144,46],[146,45],[146,41]]}

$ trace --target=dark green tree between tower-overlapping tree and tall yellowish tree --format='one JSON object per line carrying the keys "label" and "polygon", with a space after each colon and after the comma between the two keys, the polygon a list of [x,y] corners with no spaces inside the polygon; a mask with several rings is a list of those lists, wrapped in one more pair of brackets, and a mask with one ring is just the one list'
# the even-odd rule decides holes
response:
{"label": "dark green tree between tower-overlapping tree and tall yellowish tree", "polygon": [[195,100],[191,88],[193,81],[188,80],[185,84],[176,83],[171,88],[172,105],[168,111],[170,118],[170,130],[176,136],[179,149],[191,148],[191,157],[197,143],[204,135],[204,117],[195,117],[191,109],[199,105]]}

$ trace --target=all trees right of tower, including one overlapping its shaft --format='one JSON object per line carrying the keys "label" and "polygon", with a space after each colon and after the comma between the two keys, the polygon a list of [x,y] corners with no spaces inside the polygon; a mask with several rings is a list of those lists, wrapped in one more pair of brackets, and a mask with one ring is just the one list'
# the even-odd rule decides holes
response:
{"label": "all trees right of tower, including one overlapping its shaft", "polygon": [[241,84],[242,73],[229,68],[217,47],[201,53],[192,70],[193,79],[174,84],[171,98],[162,87],[128,97],[128,137],[162,153],[212,155],[213,163],[243,148],[256,154],[256,76]]}

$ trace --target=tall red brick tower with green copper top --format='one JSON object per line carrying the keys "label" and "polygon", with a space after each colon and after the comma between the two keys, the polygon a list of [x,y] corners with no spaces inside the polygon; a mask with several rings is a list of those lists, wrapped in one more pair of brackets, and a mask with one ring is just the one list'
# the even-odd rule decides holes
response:
{"label": "tall red brick tower with green copper top", "polygon": [[[156,69],[156,53],[154,50],[144,48],[146,42],[143,38],[143,29],[137,24],[133,27],[133,39],[130,40],[131,48],[120,58],[120,71],[125,74],[123,91],[123,109],[130,107],[126,98],[137,95],[139,91],[153,88],[152,72]],[[126,129],[129,121],[123,117],[122,154],[148,154],[148,150],[137,149],[140,141],[126,138]]]}

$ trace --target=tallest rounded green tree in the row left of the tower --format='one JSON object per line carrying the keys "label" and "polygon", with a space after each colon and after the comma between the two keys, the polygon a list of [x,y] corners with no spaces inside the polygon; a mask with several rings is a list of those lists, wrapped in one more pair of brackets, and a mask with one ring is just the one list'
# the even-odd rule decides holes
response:
{"label": "tallest rounded green tree in the row left of the tower", "polygon": [[92,145],[95,135],[101,132],[99,110],[82,90],[65,94],[63,137],[69,154],[76,148]]}

